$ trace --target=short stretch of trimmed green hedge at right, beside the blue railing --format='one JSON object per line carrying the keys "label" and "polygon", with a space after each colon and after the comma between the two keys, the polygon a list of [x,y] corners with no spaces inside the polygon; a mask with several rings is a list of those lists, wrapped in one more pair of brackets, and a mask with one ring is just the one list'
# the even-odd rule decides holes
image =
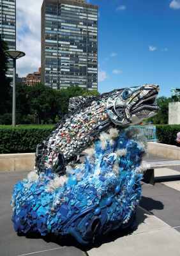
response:
{"label": "short stretch of trimmed green hedge at right, beside the blue railing", "polygon": [[180,125],[157,125],[156,138],[163,144],[177,145],[177,132],[180,132]]}

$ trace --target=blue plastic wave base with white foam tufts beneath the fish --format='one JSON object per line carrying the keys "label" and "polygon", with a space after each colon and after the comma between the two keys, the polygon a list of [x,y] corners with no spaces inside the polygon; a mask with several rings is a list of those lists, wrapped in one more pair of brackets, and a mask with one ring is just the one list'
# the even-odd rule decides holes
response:
{"label": "blue plastic wave base with white foam tufts beneath the fish", "polygon": [[62,177],[52,170],[41,173],[36,181],[27,178],[15,184],[11,200],[15,231],[71,234],[87,244],[116,228],[133,227],[142,193],[139,165],[143,152],[123,130],[114,145],[107,142],[105,150],[100,141],[96,143],[86,165],[71,172],[67,184],[57,189],[49,186]]}

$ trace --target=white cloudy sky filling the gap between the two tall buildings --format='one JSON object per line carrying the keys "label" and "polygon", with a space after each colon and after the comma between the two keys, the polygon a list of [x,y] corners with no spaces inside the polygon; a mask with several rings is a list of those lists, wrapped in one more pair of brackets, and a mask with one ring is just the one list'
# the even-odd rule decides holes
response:
{"label": "white cloudy sky filling the gap between the two tall buildings", "polygon": [[41,4],[43,0],[17,1],[17,50],[26,56],[17,60],[19,77],[41,67]]}

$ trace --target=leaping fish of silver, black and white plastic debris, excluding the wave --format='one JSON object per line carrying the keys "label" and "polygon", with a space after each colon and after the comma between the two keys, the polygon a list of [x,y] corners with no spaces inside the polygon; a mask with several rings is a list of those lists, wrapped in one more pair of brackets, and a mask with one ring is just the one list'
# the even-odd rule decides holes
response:
{"label": "leaping fish of silver, black and white plastic debris, excluding the wave", "polygon": [[70,99],[68,114],[36,148],[36,171],[52,169],[53,173],[64,174],[64,164],[97,141],[101,132],[115,125],[126,128],[139,124],[156,115],[158,92],[158,84],[146,84]]}

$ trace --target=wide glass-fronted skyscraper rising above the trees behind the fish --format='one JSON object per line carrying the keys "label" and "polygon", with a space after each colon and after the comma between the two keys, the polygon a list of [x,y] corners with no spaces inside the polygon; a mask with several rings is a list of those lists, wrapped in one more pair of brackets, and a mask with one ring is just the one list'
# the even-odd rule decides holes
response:
{"label": "wide glass-fronted skyscraper rising above the trees behind the fish", "polygon": [[98,90],[98,6],[84,0],[44,0],[41,82],[56,90]]}

